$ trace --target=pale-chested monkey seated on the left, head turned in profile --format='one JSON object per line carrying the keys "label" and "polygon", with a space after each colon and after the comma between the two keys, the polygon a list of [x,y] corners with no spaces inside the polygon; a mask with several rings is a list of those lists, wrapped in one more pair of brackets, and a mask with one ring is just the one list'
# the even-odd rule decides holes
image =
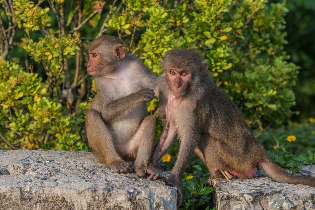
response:
{"label": "pale-chested monkey seated on the left, head turned in profile", "polygon": [[86,50],[88,72],[98,88],[85,122],[95,159],[117,173],[162,178],[150,162],[155,117],[146,116],[157,78],[117,37],[101,36]]}

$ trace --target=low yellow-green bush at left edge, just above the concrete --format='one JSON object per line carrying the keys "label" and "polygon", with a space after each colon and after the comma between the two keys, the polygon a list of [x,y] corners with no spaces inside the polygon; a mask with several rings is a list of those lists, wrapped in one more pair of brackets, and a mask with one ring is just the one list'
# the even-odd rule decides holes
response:
{"label": "low yellow-green bush at left edge, just above the concrete", "polygon": [[[47,87],[37,73],[27,73],[1,56],[0,68],[0,132],[4,138],[21,149],[66,149],[61,143],[77,137],[73,132],[81,130],[77,125],[84,117],[63,115],[62,105],[47,96]],[[83,114],[82,108],[80,112]],[[77,137],[76,146],[87,150],[79,140]]]}

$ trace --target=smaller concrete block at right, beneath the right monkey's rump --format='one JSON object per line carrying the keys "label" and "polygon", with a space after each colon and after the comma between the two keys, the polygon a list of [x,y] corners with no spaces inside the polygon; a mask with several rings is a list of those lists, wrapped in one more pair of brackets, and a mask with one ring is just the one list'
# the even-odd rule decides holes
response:
{"label": "smaller concrete block at right, beneath the right monkey's rump", "polygon": [[[304,166],[303,174],[315,176],[315,165]],[[252,179],[214,179],[217,210],[311,210],[315,209],[315,188],[274,182],[257,172]]]}

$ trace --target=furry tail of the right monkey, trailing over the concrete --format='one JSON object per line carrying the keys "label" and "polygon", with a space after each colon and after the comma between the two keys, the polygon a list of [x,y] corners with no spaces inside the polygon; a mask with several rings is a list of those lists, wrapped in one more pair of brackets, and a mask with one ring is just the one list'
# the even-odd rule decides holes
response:
{"label": "furry tail of the right monkey, trailing over the concrete", "polygon": [[288,184],[304,184],[311,187],[315,187],[315,178],[311,176],[295,176],[289,174],[278,166],[273,160],[266,154],[258,163],[259,167],[263,169],[267,176],[272,178],[276,182],[286,182]]}

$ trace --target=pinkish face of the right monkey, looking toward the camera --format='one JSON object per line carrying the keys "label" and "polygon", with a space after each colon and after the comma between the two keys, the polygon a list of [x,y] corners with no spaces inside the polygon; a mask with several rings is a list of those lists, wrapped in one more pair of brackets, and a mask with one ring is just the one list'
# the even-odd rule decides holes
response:
{"label": "pinkish face of the right monkey, looking toward the camera", "polygon": [[169,67],[167,69],[167,78],[169,79],[170,89],[175,97],[185,96],[192,73],[190,69],[178,69]]}

